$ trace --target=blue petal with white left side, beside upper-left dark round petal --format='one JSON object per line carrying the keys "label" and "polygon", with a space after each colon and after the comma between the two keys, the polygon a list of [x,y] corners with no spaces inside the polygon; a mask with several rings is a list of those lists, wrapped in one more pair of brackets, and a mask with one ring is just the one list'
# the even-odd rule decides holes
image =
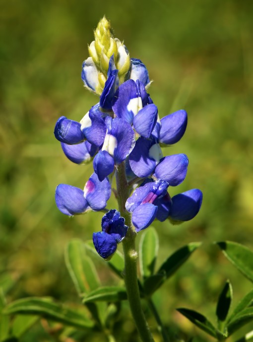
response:
{"label": "blue petal with white left side, beside upper-left dark round petal", "polygon": [[105,114],[95,104],[81,120],[81,130],[90,144],[101,146],[106,135]]}

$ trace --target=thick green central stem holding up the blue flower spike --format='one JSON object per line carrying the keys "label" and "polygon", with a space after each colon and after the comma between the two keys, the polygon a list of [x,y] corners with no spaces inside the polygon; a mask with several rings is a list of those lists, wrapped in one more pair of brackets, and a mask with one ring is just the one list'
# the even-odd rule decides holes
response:
{"label": "thick green central stem holding up the blue flower spike", "polygon": [[136,233],[131,225],[131,214],[126,211],[125,203],[129,196],[130,187],[127,186],[125,162],[118,166],[116,171],[118,202],[121,216],[126,220],[129,227],[125,239],[123,240],[123,250],[125,257],[125,284],[127,299],[133,320],[143,342],[153,342],[147,321],[141,307],[140,293],[137,282],[137,257],[138,253],[135,249]]}

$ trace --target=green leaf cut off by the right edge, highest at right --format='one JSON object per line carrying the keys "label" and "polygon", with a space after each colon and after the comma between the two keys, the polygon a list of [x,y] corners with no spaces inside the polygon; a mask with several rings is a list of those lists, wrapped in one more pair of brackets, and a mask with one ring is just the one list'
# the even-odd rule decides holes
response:
{"label": "green leaf cut off by the right edge, highest at right", "polygon": [[231,241],[216,243],[239,271],[253,282],[253,252],[242,244]]}

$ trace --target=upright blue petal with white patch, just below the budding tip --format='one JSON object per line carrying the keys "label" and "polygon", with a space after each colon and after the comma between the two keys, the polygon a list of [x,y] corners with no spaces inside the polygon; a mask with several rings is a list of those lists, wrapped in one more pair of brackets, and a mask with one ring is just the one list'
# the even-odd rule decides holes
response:
{"label": "upright blue petal with white patch, just below the budding tip", "polygon": [[113,111],[118,118],[124,119],[130,125],[133,116],[139,110],[139,97],[133,80],[124,82],[116,91],[113,99]]}

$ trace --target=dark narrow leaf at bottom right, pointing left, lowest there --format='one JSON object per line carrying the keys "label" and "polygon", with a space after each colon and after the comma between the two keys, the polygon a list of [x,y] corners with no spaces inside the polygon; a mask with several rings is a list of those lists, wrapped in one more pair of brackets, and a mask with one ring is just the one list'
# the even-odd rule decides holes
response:
{"label": "dark narrow leaf at bottom right, pointing left, lowest there", "polygon": [[207,334],[211,335],[214,338],[217,338],[217,331],[208,319],[203,316],[201,313],[189,310],[186,308],[177,309],[182,315],[190,320],[193,324],[195,324],[198,328],[205,331]]}

